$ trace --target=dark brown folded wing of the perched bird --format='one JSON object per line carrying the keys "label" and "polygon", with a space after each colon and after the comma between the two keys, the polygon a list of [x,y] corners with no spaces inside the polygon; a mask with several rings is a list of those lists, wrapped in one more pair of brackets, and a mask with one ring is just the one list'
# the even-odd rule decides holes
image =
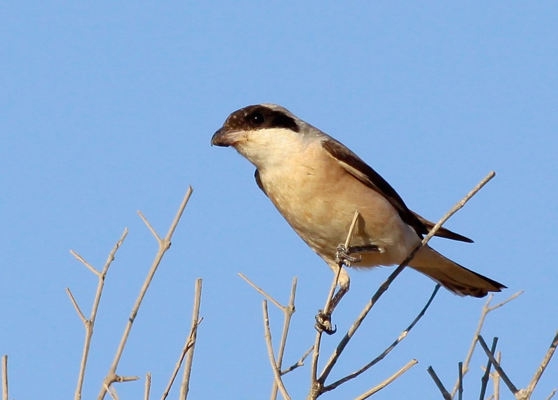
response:
{"label": "dark brown folded wing of the perched bird", "polygon": [[[322,146],[349,174],[360,180],[364,185],[370,187],[370,189],[382,194],[382,196],[391,203],[391,206],[397,210],[403,222],[412,226],[418,236],[422,237],[432,229],[434,224],[409,210],[407,205],[405,205],[405,201],[395,192],[395,189],[393,189],[382,176],[374,171],[372,167],[361,160],[358,155],[354,154],[347,147],[331,137],[324,140]],[[471,239],[461,236],[458,233],[453,233],[443,227],[437,231],[436,236],[472,243]]]}

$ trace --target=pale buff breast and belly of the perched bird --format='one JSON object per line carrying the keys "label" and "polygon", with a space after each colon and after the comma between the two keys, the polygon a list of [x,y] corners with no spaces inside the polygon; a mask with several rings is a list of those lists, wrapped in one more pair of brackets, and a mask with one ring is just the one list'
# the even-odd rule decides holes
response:
{"label": "pale buff breast and belly of the perched bird", "polygon": [[361,223],[351,244],[385,250],[366,257],[368,266],[395,263],[418,240],[389,201],[347,174],[319,144],[259,173],[273,204],[321,256],[333,257],[337,246],[345,243],[355,210],[361,213]]}

